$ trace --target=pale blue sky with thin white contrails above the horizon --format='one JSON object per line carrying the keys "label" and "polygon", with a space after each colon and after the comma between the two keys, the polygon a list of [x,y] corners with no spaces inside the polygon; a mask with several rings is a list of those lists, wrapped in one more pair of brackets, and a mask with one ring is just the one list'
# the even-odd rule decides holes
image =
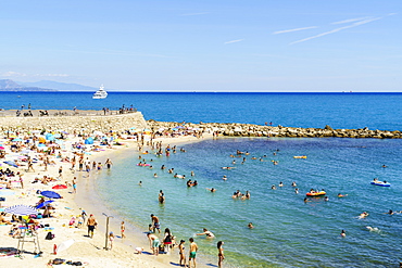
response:
{"label": "pale blue sky with thin white contrails above the horizon", "polygon": [[402,1],[3,1],[0,79],[133,91],[402,91]]}

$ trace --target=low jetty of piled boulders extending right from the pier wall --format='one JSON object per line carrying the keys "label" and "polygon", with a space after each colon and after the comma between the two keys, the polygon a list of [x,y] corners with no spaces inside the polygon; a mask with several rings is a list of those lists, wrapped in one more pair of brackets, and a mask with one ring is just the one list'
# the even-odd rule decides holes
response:
{"label": "low jetty of piled boulders extending right from the pier wall", "polygon": [[399,130],[370,130],[361,129],[332,129],[330,126],[325,128],[293,128],[282,126],[260,126],[251,124],[218,124],[218,123],[177,123],[177,122],[155,122],[148,120],[149,127],[154,131],[161,128],[165,130],[178,126],[201,131],[214,131],[218,135],[228,137],[278,137],[278,138],[375,138],[375,139],[402,139],[402,132]]}

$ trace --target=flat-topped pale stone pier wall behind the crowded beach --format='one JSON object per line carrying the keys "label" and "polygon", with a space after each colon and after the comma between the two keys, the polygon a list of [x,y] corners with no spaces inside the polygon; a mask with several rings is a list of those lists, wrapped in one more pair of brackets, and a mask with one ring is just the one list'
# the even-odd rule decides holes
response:
{"label": "flat-topped pale stone pier wall behind the crowded beach", "polygon": [[[85,115],[81,115],[85,114]],[[27,116],[27,117],[0,117],[0,129],[2,131],[23,131],[23,130],[42,130],[55,131],[73,130],[79,132],[101,131],[108,132],[125,131],[130,128],[147,128],[147,122],[140,112],[126,114],[101,115],[100,113],[80,113],[76,115],[54,116],[50,113],[49,116]]]}

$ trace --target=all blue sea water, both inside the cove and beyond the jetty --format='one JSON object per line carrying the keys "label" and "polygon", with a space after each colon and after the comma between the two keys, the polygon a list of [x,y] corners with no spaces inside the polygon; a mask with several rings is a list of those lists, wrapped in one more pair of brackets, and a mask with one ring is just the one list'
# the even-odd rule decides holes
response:
{"label": "all blue sea water, both inside the cove and beyond the jetty", "polygon": [[[402,130],[402,93],[122,93],[92,100],[87,92],[0,93],[1,107],[18,109],[117,109],[133,104],[146,119],[166,122],[252,123],[291,127],[363,128]],[[18,97],[20,95],[20,97]],[[61,102],[60,100],[63,100]],[[110,173],[97,179],[101,197],[124,219],[148,229],[150,214],[161,218],[178,239],[188,239],[208,228],[213,241],[197,238],[200,259],[210,256],[216,265],[216,242],[225,242],[225,263],[230,267],[398,267],[402,214],[401,140],[375,139],[266,139],[219,138],[186,144],[186,153],[153,158],[153,170],[139,167],[138,155],[116,154]],[[279,150],[277,155],[273,153]],[[249,151],[246,163],[236,150]],[[263,157],[263,162],[251,159]],[[294,159],[294,155],[307,155]],[[278,165],[273,165],[273,159]],[[382,165],[387,168],[382,168]],[[160,169],[174,167],[198,187]],[[153,174],[159,175],[158,178]],[[227,181],[221,178],[226,175]],[[390,188],[369,184],[373,178]],[[142,187],[138,181],[142,180]],[[282,181],[284,187],[271,186]],[[290,186],[298,183],[300,193]],[[205,188],[216,188],[215,193]],[[311,188],[325,189],[328,202],[311,199]],[[159,190],[166,203],[158,203]],[[251,200],[233,200],[234,191],[251,192]],[[348,196],[338,199],[337,194]],[[362,212],[366,219],[357,219]],[[247,224],[255,226],[250,230]],[[368,231],[367,226],[379,231]],[[340,238],[341,230],[347,231]],[[211,267],[213,267],[211,265]]]}

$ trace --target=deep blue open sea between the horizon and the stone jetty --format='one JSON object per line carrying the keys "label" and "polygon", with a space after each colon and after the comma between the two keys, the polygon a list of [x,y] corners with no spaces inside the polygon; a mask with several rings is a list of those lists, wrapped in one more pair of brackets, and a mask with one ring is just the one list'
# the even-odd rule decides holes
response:
{"label": "deep blue open sea between the horizon and the stone jetty", "polygon": [[146,119],[274,126],[402,129],[402,93],[0,92],[2,109],[101,110],[133,105]]}

